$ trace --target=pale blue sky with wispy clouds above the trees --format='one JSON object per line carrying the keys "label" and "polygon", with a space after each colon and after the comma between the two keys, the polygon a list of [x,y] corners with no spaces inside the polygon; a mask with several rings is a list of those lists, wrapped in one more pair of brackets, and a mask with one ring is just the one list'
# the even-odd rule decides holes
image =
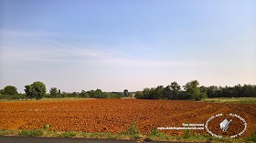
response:
{"label": "pale blue sky with wispy clouds above the trees", "polygon": [[254,0],[0,0],[0,88],[256,85]]}

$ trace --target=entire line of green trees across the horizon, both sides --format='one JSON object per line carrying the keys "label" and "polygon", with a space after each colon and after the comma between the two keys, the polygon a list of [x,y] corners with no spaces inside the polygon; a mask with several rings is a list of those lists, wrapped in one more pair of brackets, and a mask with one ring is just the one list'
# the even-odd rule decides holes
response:
{"label": "entire line of green trees across the horizon, both sides", "polygon": [[[57,87],[51,87],[47,93],[46,85],[36,81],[31,85],[25,86],[25,94],[17,92],[14,86],[6,86],[0,89],[0,99],[19,99],[19,98],[36,98],[42,97],[91,97],[91,98],[120,98],[129,97],[127,89],[123,92],[103,92],[101,89],[81,92],[61,92]],[[168,99],[168,100],[201,100],[206,97],[256,97],[255,85],[236,85],[234,87],[217,87],[217,86],[199,86],[197,80],[188,82],[181,87],[172,82],[170,85],[144,88],[143,91],[135,92],[135,97],[139,99]]]}

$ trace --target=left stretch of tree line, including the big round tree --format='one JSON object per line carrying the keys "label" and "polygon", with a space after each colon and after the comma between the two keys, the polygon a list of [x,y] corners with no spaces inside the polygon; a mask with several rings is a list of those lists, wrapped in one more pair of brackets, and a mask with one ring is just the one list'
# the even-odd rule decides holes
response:
{"label": "left stretch of tree line, including the big round tree", "polygon": [[[0,90],[0,99],[40,99],[43,97],[87,97],[87,98],[120,98],[123,94],[120,92],[102,92],[101,89],[81,92],[61,92],[57,87],[51,87],[47,93],[46,85],[40,81],[36,81],[31,85],[25,86],[25,94],[17,92],[14,86],[6,86]],[[128,92],[128,90],[127,90]]]}

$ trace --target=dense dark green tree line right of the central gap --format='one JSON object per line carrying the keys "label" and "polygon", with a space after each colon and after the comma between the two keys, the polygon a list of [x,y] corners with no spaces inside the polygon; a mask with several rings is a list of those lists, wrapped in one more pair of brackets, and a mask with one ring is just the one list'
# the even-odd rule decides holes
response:
{"label": "dense dark green tree line right of the central gap", "polygon": [[256,97],[255,85],[236,85],[234,87],[210,86],[199,87],[197,80],[188,82],[183,88],[176,82],[163,87],[144,88],[135,93],[136,98],[143,99],[170,99],[170,100],[201,100],[206,97]]}

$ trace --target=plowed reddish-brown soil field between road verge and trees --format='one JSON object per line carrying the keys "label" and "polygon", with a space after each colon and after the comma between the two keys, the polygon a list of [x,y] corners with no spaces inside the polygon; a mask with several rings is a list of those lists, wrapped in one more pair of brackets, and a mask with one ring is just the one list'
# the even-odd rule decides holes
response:
{"label": "plowed reddish-brown soil field between road verge and trees", "polygon": [[[136,121],[141,134],[159,127],[182,127],[187,124],[205,124],[217,114],[237,114],[244,118],[247,128],[241,137],[256,131],[256,104],[220,104],[193,101],[138,100],[138,99],[83,99],[37,100],[0,102],[0,128],[37,129],[45,124],[57,131],[86,131],[120,133]],[[225,118],[225,116],[224,116]],[[219,122],[213,119],[208,128],[219,133]],[[216,122],[216,123],[215,123]],[[232,124],[232,126],[231,126]],[[233,118],[228,135],[242,130],[243,124]],[[161,130],[179,135],[184,130]],[[221,130],[220,130],[221,131]],[[197,130],[207,133],[205,129]]]}

